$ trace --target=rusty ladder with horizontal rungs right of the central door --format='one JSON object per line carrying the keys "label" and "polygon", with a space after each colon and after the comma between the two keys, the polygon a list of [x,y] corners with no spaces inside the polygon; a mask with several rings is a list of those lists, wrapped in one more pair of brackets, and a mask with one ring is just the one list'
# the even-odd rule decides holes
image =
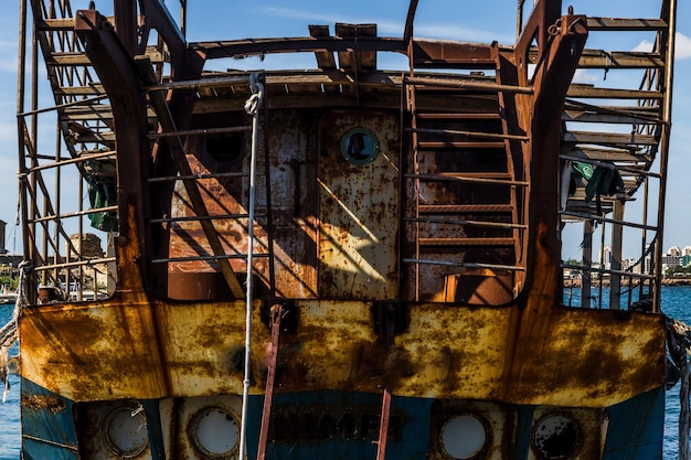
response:
{"label": "rusty ladder with horizontal rungs right of the central door", "polygon": [[[520,152],[517,143],[528,137],[510,132],[513,124],[507,113],[514,111],[507,110],[507,95],[530,89],[504,84],[500,75],[498,69],[495,81],[458,75],[419,78],[411,71],[404,77],[411,149],[402,182],[403,190],[415,190],[404,220],[413,227],[414,236],[408,239],[415,245],[414,254],[403,261],[413,267],[416,300],[423,265],[487,276],[522,270],[519,259],[527,225],[519,196],[524,195],[528,182],[522,179],[522,157],[514,152]],[[438,109],[425,101],[432,95],[469,93],[497,97],[496,108]]]}

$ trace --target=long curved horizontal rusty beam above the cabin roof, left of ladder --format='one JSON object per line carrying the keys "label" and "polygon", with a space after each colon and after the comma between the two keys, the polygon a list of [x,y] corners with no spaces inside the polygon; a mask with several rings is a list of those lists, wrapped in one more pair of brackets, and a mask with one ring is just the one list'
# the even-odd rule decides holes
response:
{"label": "long curved horizontal rusty beam above the cabin roof, left of ladder", "polygon": [[221,57],[296,52],[391,51],[405,53],[406,43],[401,39],[380,36],[306,36],[227,42],[196,42],[190,43],[189,47],[191,51],[203,54],[206,60],[215,60]]}

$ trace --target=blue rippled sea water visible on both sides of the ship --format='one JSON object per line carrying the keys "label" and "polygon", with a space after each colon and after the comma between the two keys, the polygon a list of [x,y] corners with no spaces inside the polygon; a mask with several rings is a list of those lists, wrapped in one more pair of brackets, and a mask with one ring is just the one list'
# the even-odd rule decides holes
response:
{"label": "blue rippled sea water visible on both sides of the ship", "polygon": [[[12,304],[0,304],[0,327],[12,317]],[[662,288],[662,310],[677,320],[691,324],[691,287]],[[10,354],[17,354],[14,346]],[[10,375],[11,388],[4,404],[0,402],[0,460],[20,458],[19,377]],[[679,384],[667,392],[665,413],[663,460],[677,460],[679,449]]]}

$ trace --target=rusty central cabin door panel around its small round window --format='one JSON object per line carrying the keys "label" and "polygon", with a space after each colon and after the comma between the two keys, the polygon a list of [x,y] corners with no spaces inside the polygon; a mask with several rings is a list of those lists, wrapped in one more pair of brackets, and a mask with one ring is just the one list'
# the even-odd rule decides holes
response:
{"label": "rusty central cabin door panel around its small round window", "polygon": [[[380,152],[353,164],[343,136],[366,129]],[[391,299],[397,296],[397,115],[330,111],[319,125],[319,293],[322,298]]]}

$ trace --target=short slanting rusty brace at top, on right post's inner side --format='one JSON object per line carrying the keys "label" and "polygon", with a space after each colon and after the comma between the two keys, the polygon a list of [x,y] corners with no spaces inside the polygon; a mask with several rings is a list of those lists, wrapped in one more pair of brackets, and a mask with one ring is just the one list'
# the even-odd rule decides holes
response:
{"label": "short slanting rusty brace at top, on right post's inner side", "polygon": [[546,50],[548,28],[554,24],[561,14],[561,0],[539,0],[534,4],[530,19],[514,46],[514,64],[519,72],[519,85],[524,86],[528,84],[528,56],[533,38],[538,40],[538,62],[540,62],[542,54]]}

